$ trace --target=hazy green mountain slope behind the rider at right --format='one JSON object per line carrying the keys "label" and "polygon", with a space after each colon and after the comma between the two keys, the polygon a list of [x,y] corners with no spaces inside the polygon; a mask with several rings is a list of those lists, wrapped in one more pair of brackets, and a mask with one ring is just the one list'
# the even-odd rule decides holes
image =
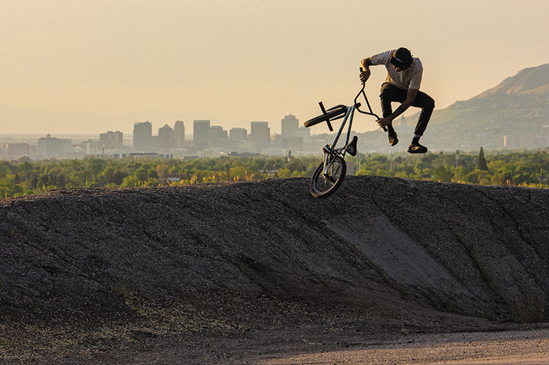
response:
{"label": "hazy green mountain slope behind the rider at right", "polygon": [[[397,126],[397,133],[412,133],[418,116],[406,118],[407,125]],[[366,149],[386,143],[379,131],[362,135]],[[437,150],[548,147],[549,64],[524,68],[476,97],[435,110],[422,142]]]}

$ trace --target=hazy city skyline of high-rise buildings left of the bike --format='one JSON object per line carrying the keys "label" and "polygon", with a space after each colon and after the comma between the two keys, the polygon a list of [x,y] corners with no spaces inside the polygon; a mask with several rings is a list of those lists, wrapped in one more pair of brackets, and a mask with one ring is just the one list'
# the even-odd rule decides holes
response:
{"label": "hazy city skyline of high-rise buildings left of the bike", "polygon": [[[310,130],[299,127],[299,120],[292,114],[281,120],[283,134],[271,134],[268,122],[250,122],[250,128],[231,127],[226,130],[220,125],[211,125],[209,120],[193,121],[193,134],[185,136],[185,123],[175,121],[158,129],[149,121],[135,122],[130,136],[121,131],[106,131],[94,136],[62,138],[62,136],[40,136],[33,140],[30,136],[19,136],[19,140],[5,138],[0,134],[0,157],[31,157],[33,160],[44,158],[84,158],[97,155],[111,158],[128,153],[145,153],[187,157],[193,155],[227,155],[229,153],[266,153],[279,155],[294,152],[311,151]],[[158,130],[153,134],[153,130]],[[248,134],[249,130],[249,134]],[[69,137],[71,135],[68,135]],[[82,135],[80,135],[82,136]],[[189,138],[190,137],[190,138]],[[131,143],[128,143],[129,141]],[[36,142],[35,142],[36,141]],[[126,143],[124,143],[126,141]]]}

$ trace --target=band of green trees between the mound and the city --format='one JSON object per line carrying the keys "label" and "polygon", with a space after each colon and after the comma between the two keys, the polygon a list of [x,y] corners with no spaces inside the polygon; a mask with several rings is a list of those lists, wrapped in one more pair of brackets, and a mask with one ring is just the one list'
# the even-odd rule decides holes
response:
{"label": "band of green trees between the mound and the city", "polygon": [[[427,155],[362,154],[347,156],[355,175],[478,185],[549,188],[547,151],[428,153]],[[38,194],[56,188],[189,185],[218,181],[250,181],[269,177],[310,177],[318,156],[253,156],[164,160],[0,161],[0,199]],[[349,172],[350,168],[348,168]]]}

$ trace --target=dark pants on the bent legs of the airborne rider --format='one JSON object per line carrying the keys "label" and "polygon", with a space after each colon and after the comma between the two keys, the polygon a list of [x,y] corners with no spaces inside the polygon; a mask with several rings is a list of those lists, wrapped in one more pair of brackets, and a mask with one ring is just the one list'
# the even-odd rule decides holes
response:
{"label": "dark pants on the bent legs of the airborne rider", "polygon": [[[408,90],[402,90],[401,88],[397,88],[397,86],[384,83],[382,85],[381,95],[379,95],[379,98],[381,98],[382,101],[383,117],[385,118],[393,113],[393,109],[391,108],[390,103],[392,103],[393,101],[396,101],[398,103],[404,103],[407,94]],[[425,131],[425,128],[427,128],[429,119],[431,118],[431,114],[433,114],[434,100],[432,97],[425,94],[425,92],[421,92],[418,90],[416,99],[412,103],[412,106],[415,108],[421,108],[421,113],[419,114],[419,118],[417,119],[417,125],[414,134],[423,136],[423,132]],[[393,125],[388,125],[388,130],[394,131]]]}

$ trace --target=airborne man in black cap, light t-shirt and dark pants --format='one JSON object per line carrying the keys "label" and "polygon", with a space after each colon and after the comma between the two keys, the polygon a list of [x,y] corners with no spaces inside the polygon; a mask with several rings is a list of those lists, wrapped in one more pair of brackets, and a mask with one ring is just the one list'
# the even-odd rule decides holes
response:
{"label": "airborne man in black cap, light t-shirt and dark pants", "polygon": [[[419,144],[419,138],[423,136],[423,132],[427,128],[429,119],[431,118],[434,110],[434,100],[425,94],[425,92],[419,91],[423,75],[421,61],[419,58],[412,57],[412,53],[403,47],[378,53],[360,61],[360,66],[362,66],[363,70],[360,72],[360,81],[366,82],[371,75],[370,66],[377,66],[379,64],[383,64],[387,68],[387,79],[382,84],[379,95],[382,103],[383,118],[379,119],[377,124],[379,127],[387,128],[389,144],[395,146],[399,142],[399,139],[397,138],[397,132],[393,128],[393,120],[404,113],[410,106],[421,108],[414,131],[414,138],[408,147],[408,152],[427,152],[427,147]],[[393,101],[400,103],[394,112],[390,105]]]}

